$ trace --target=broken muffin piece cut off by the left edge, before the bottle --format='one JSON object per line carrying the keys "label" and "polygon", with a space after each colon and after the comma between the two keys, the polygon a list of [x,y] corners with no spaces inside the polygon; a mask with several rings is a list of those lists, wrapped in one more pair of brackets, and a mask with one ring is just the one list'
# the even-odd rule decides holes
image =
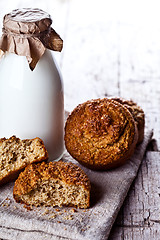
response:
{"label": "broken muffin piece cut off by the left edge, before the bottle", "polygon": [[28,164],[48,159],[40,138],[21,140],[16,136],[0,139],[0,185],[14,180]]}

